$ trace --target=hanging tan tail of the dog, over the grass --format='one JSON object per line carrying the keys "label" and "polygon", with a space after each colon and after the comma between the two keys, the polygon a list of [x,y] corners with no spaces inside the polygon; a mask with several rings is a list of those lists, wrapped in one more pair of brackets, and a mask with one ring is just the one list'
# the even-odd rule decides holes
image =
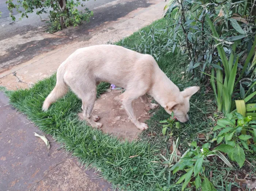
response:
{"label": "hanging tan tail of the dog, over the grass", "polygon": [[64,81],[64,74],[65,69],[63,66],[60,66],[56,75],[56,85],[52,92],[46,97],[42,107],[43,111],[47,111],[52,103],[54,103],[58,98],[62,97],[68,92],[68,85]]}

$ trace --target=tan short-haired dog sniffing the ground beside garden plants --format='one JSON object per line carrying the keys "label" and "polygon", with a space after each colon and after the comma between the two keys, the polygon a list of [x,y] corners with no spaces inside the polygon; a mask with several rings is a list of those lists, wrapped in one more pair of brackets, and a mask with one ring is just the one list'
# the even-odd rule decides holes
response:
{"label": "tan short-haired dog sniffing the ground beside garden plants", "polygon": [[132,101],[141,98],[150,109],[157,108],[147,100],[151,95],[166,112],[181,122],[189,120],[189,98],[200,88],[193,86],[181,91],[170,81],[148,54],[140,54],[127,48],[115,45],[96,45],[80,48],[71,54],[57,71],[57,83],[44,101],[42,109],[46,111],[58,98],[65,95],[68,86],[82,99],[84,118],[93,127],[101,127],[96,121],[99,116],[91,112],[96,100],[96,87],[100,82],[113,83],[123,87],[125,92],[120,95],[130,120],[140,130],[148,128],[135,116]]}

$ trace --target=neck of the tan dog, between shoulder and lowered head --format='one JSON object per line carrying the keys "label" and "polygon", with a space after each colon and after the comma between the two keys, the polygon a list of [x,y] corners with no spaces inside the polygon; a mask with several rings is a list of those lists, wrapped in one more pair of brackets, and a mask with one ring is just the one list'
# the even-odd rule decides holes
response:
{"label": "neck of the tan dog, between shoulder and lowered head", "polygon": [[[160,69],[159,69],[160,70]],[[162,70],[157,71],[156,81],[152,86],[149,94],[163,108],[170,101],[176,101],[180,95],[178,87],[163,73]]]}

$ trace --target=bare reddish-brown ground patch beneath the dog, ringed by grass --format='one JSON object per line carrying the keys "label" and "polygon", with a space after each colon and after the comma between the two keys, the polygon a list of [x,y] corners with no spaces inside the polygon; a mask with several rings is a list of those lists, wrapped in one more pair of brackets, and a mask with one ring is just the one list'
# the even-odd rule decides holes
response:
{"label": "bare reddish-brown ground patch beneath the dog, ringed by grass", "polygon": [[[125,109],[119,98],[119,90],[107,92],[101,95],[101,98],[96,100],[93,115],[98,115],[103,124],[101,130],[104,133],[117,136],[121,140],[127,139],[132,141],[138,138],[139,130],[128,118]],[[140,122],[148,120],[152,114],[149,114],[149,108],[147,108],[138,98],[133,101],[133,109]],[[83,120],[83,113],[79,113],[80,119]]]}

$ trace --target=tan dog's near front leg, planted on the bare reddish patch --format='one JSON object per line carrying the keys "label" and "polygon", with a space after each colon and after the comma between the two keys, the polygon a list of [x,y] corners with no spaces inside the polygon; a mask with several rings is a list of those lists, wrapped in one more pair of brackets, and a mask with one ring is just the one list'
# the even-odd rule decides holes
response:
{"label": "tan dog's near front leg, planted on the bare reddish patch", "polygon": [[133,122],[133,124],[136,125],[136,127],[140,130],[146,130],[148,128],[147,124],[145,123],[141,123],[139,122],[139,120],[137,119],[135,112],[132,108],[132,101],[135,100],[131,97],[128,97],[129,94],[127,94],[128,92],[125,92],[123,94],[120,95],[120,98],[122,100],[122,103],[124,105],[124,109],[127,112],[130,120]]}

